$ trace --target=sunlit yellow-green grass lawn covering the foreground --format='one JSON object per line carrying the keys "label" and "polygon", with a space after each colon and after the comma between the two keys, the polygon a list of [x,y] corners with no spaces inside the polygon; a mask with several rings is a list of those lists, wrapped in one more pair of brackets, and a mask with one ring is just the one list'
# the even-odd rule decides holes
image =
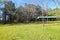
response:
{"label": "sunlit yellow-green grass lawn covering the foreground", "polygon": [[0,40],[60,40],[60,22],[0,24]]}

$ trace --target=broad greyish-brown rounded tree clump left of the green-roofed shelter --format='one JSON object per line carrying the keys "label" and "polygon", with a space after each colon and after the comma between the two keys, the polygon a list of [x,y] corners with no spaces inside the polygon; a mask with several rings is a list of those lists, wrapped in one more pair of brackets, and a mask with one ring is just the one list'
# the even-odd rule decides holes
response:
{"label": "broad greyish-brown rounded tree clump left of the green-roofed shelter", "polygon": [[38,16],[42,15],[41,7],[33,4],[26,4],[24,7],[20,6],[16,9],[16,20],[23,22],[30,22],[31,20],[35,20]]}

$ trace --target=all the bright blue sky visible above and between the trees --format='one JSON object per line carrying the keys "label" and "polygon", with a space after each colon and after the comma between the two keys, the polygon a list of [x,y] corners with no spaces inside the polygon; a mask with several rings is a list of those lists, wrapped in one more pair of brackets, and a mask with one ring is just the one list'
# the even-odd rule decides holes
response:
{"label": "all the bright blue sky visible above and between the trees", "polygon": [[[46,5],[48,5],[48,8],[51,8],[51,9],[58,7],[57,5],[55,5],[55,3],[52,0],[49,0],[49,1],[48,0],[11,0],[11,1],[15,3],[15,7],[19,7],[21,5],[24,6],[26,3],[40,5],[42,8],[46,8]],[[60,3],[60,0],[59,0],[59,3]],[[2,5],[0,7],[4,7],[4,6]]]}

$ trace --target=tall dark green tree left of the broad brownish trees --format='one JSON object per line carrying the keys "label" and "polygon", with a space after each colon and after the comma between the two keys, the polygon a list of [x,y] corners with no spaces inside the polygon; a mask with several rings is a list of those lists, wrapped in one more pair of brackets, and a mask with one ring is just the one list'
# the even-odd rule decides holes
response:
{"label": "tall dark green tree left of the broad brownish trees", "polygon": [[15,11],[15,4],[12,1],[5,2],[5,8],[3,11],[3,20],[6,23],[6,15],[8,15],[8,21],[13,22]]}

